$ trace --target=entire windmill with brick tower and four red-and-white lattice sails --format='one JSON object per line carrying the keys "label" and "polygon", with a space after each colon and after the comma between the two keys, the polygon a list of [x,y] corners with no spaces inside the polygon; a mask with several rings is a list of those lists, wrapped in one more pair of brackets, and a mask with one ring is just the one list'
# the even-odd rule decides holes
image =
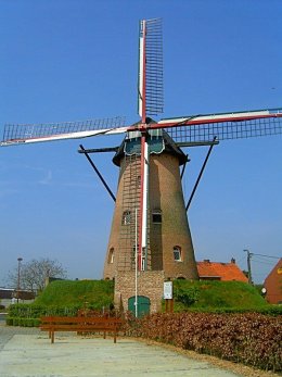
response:
{"label": "entire windmill with brick tower and four red-and-white lattice sails", "polygon": [[126,277],[137,272],[145,275],[144,281],[151,272],[164,279],[197,278],[179,169],[188,158],[181,147],[209,146],[210,152],[221,140],[282,134],[282,109],[152,118],[163,108],[162,21],[143,20],[137,123],[114,117],[4,128],[2,147],[126,134],[117,148],[79,150],[90,162],[89,153],[115,151],[114,163],[120,167],[117,197],[111,193],[116,205],[104,267],[104,278],[116,278],[119,292]]}

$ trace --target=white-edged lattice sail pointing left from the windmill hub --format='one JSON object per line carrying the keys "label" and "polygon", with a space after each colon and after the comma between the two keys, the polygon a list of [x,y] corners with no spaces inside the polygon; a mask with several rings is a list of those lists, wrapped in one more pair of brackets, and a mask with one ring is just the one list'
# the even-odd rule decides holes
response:
{"label": "white-edged lattice sail pointing left from the windmill hub", "polygon": [[3,140],[0,146],[55,141],[64,139],[80,139],[99,135],[123,134],[125,117],[64,122],[50,124],[5,125]]}

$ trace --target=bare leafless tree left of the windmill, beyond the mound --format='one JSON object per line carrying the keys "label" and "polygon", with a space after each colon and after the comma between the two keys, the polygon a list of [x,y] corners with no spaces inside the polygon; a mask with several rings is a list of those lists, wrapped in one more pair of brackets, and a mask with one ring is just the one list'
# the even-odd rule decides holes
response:
{"label": "bare leafless tree left of the windmill, beyond the mound", "polygon": [[[27,289],[33,292],[41,291],[44,288],[46,279],[49,277],[66,278],[64,269],[57,261],[49,259],[31,260],[21,265],[21,289]],[[9,273],[10,284],[17,287],[17,268]]]}

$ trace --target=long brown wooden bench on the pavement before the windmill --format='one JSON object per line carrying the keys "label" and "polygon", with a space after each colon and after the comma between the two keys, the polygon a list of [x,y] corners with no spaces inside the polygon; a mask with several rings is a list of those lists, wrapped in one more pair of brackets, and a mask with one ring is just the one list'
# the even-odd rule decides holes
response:
{"label": "long brown wooden bench on the pavement before the windmill", "polygon": [[55,331],[76,331],[76,332],[106,332],[114,335],[114,342],[123,321],[116,317],[57,317],[48,316],[40,318],[40,329],[49,331],[51,343],[54,342]]}

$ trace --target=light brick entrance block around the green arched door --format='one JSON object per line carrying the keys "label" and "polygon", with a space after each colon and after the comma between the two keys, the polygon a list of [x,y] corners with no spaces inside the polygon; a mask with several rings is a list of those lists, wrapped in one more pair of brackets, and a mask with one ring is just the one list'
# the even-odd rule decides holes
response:
{"label": "light brick entrance block around the green arched door", "polygon": [[[162,299],[164,296],[164,271],[138,272],[137,294],[140,301],[149,302],[150,313],[162,311]],[[115,277],[115,307],[132,311],[132,303],[136,298],[136,273],[118,273]],[[144,305],[145,307],[145,305]]]}

